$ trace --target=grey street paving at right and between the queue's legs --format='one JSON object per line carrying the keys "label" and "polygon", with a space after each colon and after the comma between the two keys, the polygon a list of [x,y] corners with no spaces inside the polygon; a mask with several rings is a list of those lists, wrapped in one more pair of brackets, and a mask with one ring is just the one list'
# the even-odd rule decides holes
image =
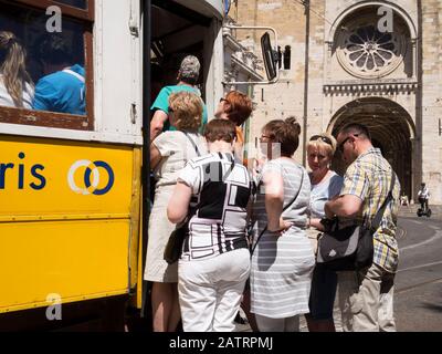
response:
{"label": "grey street paving at right and between the queue's legs", "polygon": [[[394,316],[399,332],[442,332],[442,206],[430,206],[431,218],[418,218],[419,206],[400,207],[398,243],[400,262],[394,281]],[[242,313],[242,316],[245,315]],[[341,332],[337,298],[334,308]],[[308,332],[301,316],[301,332]],[[236,331],[251,332],[249,324]]]}

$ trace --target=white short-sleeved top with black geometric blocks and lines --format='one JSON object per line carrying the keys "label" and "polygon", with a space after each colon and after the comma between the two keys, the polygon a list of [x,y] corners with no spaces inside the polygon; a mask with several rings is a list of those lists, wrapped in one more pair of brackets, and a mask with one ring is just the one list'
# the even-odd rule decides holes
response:
{"label": "white short-sleeved top with black geometric blocks and lines", "polygon": [[232,154],[212,153],[192,158],[178,180],[198,199],[189,221],[181,261],[214,258],[240,248],[245,239],[246,207],[251,195],[248,169]]}

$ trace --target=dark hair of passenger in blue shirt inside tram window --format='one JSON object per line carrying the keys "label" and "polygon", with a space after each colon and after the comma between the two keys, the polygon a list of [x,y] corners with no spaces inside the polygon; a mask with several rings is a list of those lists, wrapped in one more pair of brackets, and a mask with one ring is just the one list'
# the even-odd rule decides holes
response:
{"label": "dark hair of passenger in blue shirt inside tram window", "polygon": [[64,64],[72,61],[72,51],[65,39],[57,34],[46,34],[41,39],[39,55],[42,61],[51,64]]}

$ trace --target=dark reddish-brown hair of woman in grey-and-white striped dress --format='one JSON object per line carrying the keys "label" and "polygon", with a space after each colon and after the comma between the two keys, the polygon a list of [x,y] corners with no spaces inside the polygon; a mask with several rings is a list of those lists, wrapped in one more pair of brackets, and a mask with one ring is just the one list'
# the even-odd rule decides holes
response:
{"label": "dark reddish-brown hair of woman in grey-and-white striped dress", "polygon": [[299,146],[301,125],[293,116],[285,121],[271,121],[262,131],[269,136],[272,143],[281,144],[282,156],[292,157]]}

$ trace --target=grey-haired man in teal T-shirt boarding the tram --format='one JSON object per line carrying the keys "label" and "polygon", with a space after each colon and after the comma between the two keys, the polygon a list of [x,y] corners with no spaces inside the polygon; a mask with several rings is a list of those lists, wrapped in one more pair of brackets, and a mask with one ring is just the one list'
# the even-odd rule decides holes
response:
{"label": "grey-haired man in teal T-shirt boarding the tram", "polygon": [[[175,131],[169,123],[169,96],[172,93],[188,91],[201,96],[201,92],[196,87],[200,74],[201,64],[197,56],[187,55],[178,71],[178,83],[172,86],[164,87],[150,107],[154,116],[150,121],[150,143],[164,131]],[[207,124],[208,114],[203,105],[202,125]]]}

